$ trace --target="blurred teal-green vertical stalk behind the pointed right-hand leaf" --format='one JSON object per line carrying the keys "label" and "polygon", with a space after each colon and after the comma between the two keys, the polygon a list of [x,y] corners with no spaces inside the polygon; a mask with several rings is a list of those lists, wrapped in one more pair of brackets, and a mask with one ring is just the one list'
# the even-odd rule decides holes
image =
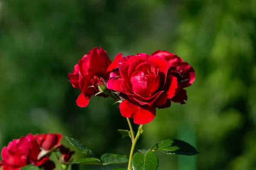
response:
{"label": "blurred teal-green vertical stalk behind the pointed right-hand leaf", "polygon": [[[189,122],[184,120],[178,127],[178,138],[196,147],[195,126],[189,125]],[[196,170],[196,156],[179,156],[179,170]]]}

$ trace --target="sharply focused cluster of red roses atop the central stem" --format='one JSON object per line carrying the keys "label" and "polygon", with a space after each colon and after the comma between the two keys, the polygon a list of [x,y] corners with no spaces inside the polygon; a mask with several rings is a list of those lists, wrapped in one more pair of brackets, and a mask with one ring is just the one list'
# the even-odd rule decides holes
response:
{"label": "sharply focused cluster of red roses atop the central stem", "polygon": [[156,108],[168,108],[171,101],[185,103],[184,88],[195,81],[195,71],[168,51],[127,57],[119,53],[111,62],[106,51],[95,47],[68,77],[73,87],[81,90],[78,106],[86,107],[93,95],[116,96],[122,116],[145,124],[154,119]]}

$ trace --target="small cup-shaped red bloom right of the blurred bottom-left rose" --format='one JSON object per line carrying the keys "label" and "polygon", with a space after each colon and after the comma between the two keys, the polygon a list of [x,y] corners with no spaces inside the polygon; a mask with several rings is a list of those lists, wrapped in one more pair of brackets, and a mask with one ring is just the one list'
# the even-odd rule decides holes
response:
{"label": "small cup-shaped red bloom right of the blurred bottom-left rose", "polygon": [[62,135],[58,133],[47,133],[36,136],[39,146],[44,150],[56,149],[61,144]]}

